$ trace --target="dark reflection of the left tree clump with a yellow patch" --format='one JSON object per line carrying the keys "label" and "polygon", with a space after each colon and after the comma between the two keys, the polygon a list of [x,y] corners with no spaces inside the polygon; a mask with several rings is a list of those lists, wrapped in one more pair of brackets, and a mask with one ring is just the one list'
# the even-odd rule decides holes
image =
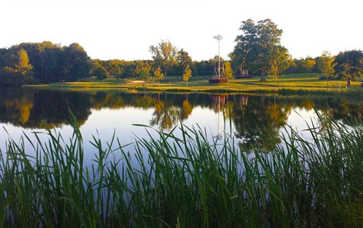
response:
{"label": "dark reflection of the left tree clump with a yellow patch", "polygon": [[24,128],[59,127],[69,119],[68,107],[78,117],[80,124],[90,114],[89,99],[77,93],[44,90],[1,91],[0,122],[10,122]]}

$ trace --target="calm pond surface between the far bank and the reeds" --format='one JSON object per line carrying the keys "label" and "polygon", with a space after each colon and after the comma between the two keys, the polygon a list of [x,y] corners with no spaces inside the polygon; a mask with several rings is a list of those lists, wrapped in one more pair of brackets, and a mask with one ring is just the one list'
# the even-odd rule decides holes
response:
{"label": "calm pond surface between the far bank and the reeds", "polygon": [[[95,152],[88,143],[92,141],[92,134],[106,142],[115,132],[122,144],[132,143],[136,137],[148,138],[144,127],[133,124],[165,131],[180,123],[198,126],[205,129],[210,141],[223,138],[227,132],[248,151],[256,145],[268,149],[280,143],[284,127],[291,126],[304,133],[305,121],[323,125],[324,120],[316,118],[314,108],[343,121],[352,115],[362,118],[363,114],[363,101],[352,97],[0,89],[1,150],[5,150],[10,136],[16,142],[24,133],[34,139],[32,132],[45,132],[46,122],[65,139],[69,138],[72,129],[67,123],[68,107],[79,119],[89,161]],[[149,131],[156,135],[153,130]],[[41,137],[47,138],[45,134]]]}

